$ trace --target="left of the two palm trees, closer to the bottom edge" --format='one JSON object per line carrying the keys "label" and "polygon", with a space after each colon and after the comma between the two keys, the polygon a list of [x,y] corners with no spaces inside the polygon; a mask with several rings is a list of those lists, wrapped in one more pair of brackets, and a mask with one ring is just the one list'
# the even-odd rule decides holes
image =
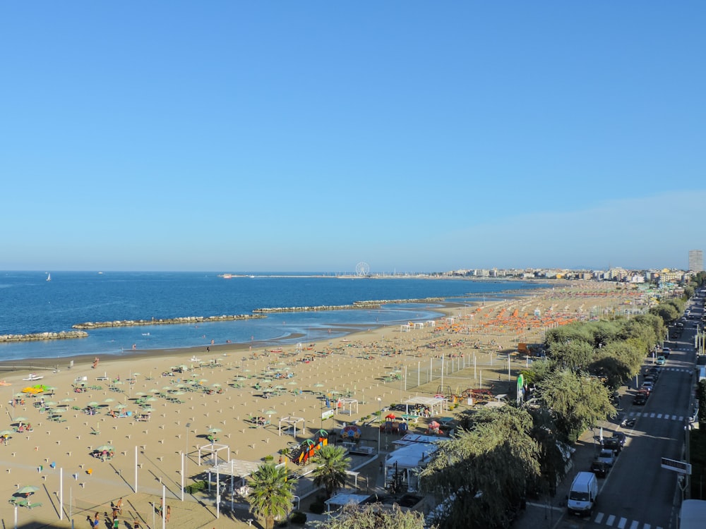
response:
{"label": "left of the two palm trees, closer to the bottom edge", "polygon": [[286,466],[265,463],[251,475],[249,485],[250,511],[265,518],[265,529],[273,529],[275,518],[285,518],[292,509],[297,480],[287,478]]}

